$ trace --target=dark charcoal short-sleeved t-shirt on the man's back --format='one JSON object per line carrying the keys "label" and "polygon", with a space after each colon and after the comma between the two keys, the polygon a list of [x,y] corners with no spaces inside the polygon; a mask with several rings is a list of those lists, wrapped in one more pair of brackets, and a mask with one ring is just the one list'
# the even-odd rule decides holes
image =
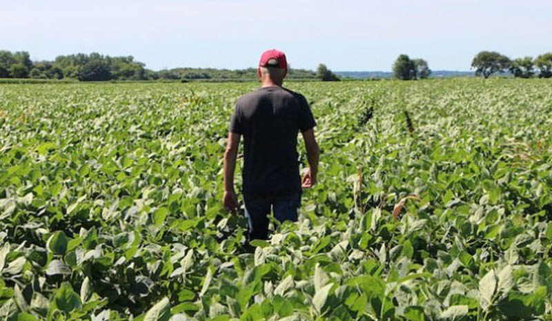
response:
{"label": "dark charcoal short-sleeved t-shirt on the man's back", "polygon": [[286,88],[260,88],[238,99],[230,131],[244,136],[245,197],[302,193],[297,134],[315,125],[305,97]]}

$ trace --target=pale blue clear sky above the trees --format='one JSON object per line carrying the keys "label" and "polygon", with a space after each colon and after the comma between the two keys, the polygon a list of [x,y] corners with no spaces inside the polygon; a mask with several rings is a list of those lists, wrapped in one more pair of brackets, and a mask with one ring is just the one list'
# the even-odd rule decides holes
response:
{"label": "pale blue clear sky above the trees", "polygon": [[268,48],[295,68],[390,70],[406,53],[469,70],[480,50],[552,51],[551,14],[551,0],[0,0],[0,49],[132,55],[154,70],[255,67]]}

